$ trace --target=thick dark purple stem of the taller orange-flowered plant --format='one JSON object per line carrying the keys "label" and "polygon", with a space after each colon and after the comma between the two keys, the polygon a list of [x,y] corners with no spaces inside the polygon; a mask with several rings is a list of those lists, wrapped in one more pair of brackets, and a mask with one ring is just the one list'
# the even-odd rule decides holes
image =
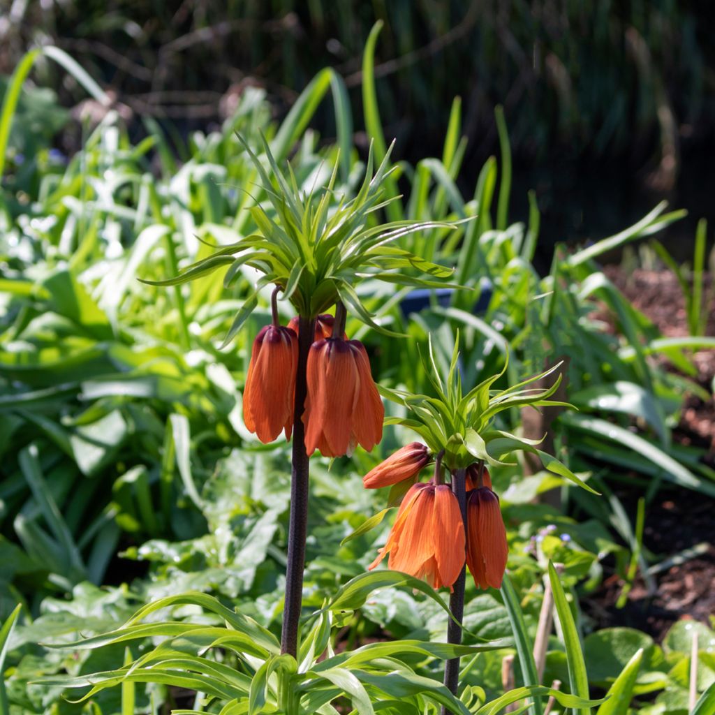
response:
{"label": "thick dark purple stem of the taller orange-flowered plant", "polygon": [[315,320],[300,317],[298,327],[298,367],[295,376],[293,408],[293,455],[290,472],[290,526],[288,528],[288,565],[285,572],[285,606],[281,653],[294,658],[298,650],[298,625],[303,595],[305,537],[308,521],[308,455],[305,452],[305,427],[302,422],[307,393],[308,352],[315,333]]}

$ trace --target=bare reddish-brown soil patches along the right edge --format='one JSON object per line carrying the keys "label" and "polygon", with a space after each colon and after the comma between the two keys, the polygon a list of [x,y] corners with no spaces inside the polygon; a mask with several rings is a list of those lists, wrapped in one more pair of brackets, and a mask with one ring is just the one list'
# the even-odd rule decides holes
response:
{"label": "bare reddish-brown soil patches along the right edge", "polygon": [[[619,267],[607,267],[606,275],[638,310],[644,312],[663,335],[688,335],[685,302],[680,286],[670,272],[635,270],[626,275]],[[711,280],[707,335],[715,335],[715,300]],[[697,368],[693,378],[709,393],[715,376],[715,350],[701,350],[692,355]],[[672,369],[664,358],[656,358]],[[715,403],[687,395],[674,439],[684,445],[707,450],[705,461],[715,465]],[[621,501],[635,521],[639,493],[621,491]],[[623,608],[616,601],[623,589],[617,573],[606,578],[583,608],[598,627],[631,626],[650,633],[660,641],[670,626],[681,618],[708,622],[715,613],[715,500],[690,490],[661,489],[646,510],[644,547],[653,555],[651,563],[661,563],[669,556],[696,545],[707,550],[684,563],[654,574],[656,589],[649,589],[638,576]]]}

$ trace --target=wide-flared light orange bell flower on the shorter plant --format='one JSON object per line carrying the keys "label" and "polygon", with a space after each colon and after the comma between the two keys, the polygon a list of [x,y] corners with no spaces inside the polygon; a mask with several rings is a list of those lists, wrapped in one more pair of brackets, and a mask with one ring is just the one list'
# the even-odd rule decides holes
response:
{"label": "wide-flared light orange bell flower on the shorter plant", "polygon": [[448,485],[413,485],[400,505],[388,542],[370,569],[389,553],[388,566],[452,590],[465,559],[465,537],[457,498]]}

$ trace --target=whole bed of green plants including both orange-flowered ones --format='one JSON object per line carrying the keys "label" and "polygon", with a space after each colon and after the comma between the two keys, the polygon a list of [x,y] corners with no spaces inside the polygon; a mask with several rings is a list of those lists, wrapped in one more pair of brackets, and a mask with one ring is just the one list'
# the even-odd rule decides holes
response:
{"label": "whole bed of green plants including both orange-flowered ones", "polygon": [[[59,49],[16,69],[0,117],[3,715],[714,711],[709,625],[656,644],[579,605],[604,571],[623,600],[654,578],[642,522],[659,490],[715,495],[672,439],[683,393],[709,398],[689,352],[715,347],[705,239],[689,337],[659,335],[596,262],[682,212],[559,248],[539,275],[533,194],[528,224],[508,222],[501,112],[500,161],[471,197],[459,99],[442,157],[392,163],[378,33],[363,154],[332,69],[280,124],[248,87],[178,146],[158,126],[134,143]],[[14,149],[41,58],[107,109],[72,157]],[[309,128],[326,96],[335,142]],[[643,487],[634,524],[626,480]],[[120,559],[136,573],[112,581]]]}

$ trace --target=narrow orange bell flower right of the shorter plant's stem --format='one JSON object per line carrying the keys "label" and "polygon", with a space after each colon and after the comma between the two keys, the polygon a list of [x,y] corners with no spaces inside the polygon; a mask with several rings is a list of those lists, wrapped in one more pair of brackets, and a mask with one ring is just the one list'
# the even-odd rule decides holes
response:
{"label": "narrow orange bell flower right of the shorter plant's stem", "polygon": [[508,546],[499,498],[488,487],[467,494],[467,566],[479,588],[501,588]]}

